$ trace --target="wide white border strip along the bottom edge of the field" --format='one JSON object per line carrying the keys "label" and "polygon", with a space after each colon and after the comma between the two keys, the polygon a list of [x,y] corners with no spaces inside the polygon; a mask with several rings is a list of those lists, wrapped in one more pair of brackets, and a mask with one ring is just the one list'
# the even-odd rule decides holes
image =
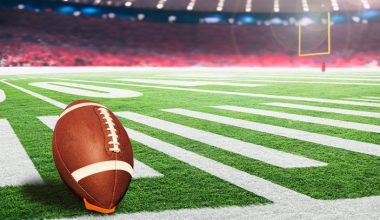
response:
{"label": "wide white border strip along the bottom edge of the field", "polygon": [[178,209],[160,212],[138,212],[112,216],[82,216],[77,220],[100,219],[379,219],[380,196],[333,201],[314,200],[312,202],[292,202],[287,204],[267,204],[250,206],[230,206],[224,208]]}

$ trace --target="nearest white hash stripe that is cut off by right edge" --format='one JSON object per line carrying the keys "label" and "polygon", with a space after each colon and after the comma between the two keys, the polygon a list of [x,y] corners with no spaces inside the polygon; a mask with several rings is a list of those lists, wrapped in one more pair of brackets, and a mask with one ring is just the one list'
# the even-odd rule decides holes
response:
{"label": "nearest white hash stripe that is cut off by right edge", "polygon": [[242,119],[235,119],[225,116],[218,116],[209,113],[191,111],[186,109],[164,109],[163,111],[171,112],[179,115],[193,117],[197,119],[208,120],[212,122],[232,125],[240,128],[245,128],[253,131],[264,132],[268,134],[283,136],[286,138],[293,138],[303,140],[311,143],[321,144],[325,146],[335,147],[357,153],[368,155],[380,156],[380,145],[371,144],[361,141],[348,140],[344,138],[333,137],[329,135],[316,134],[297,129],[284,128],[280,126],[267,125],[253,121],[246,121]]}

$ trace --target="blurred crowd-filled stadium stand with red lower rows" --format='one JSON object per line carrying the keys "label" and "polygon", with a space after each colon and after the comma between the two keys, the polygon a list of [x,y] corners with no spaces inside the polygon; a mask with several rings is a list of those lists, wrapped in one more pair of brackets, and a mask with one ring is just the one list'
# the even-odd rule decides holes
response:
{"label": "blurred crowd-filled stadium stand with red lower rows", "polygon": [[[167,24],[0,10],[0,66],[320,66],[297,27]],[[329,66],[379,66],[380,24],[332,27]],[[350,45],[348,47],[348,45]]]}

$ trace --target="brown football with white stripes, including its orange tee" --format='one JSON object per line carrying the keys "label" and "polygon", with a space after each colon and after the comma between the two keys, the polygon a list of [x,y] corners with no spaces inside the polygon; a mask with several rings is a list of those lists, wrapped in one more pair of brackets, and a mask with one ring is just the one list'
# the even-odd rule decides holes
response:
{"label": "brown football with white stripes, including its orange tee", "polygon": [[87,100],[67,106],[54,129],[53,156],[62,180],[87,209],[115,211],[132,179],[133,152],[110,110]]}

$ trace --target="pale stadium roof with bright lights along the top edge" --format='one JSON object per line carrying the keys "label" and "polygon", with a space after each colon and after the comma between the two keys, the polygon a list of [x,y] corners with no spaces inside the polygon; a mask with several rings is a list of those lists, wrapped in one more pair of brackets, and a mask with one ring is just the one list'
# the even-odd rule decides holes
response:
{"label": "pale stadium roof with bright lights along the top edge", "polygon": [[[53,0],[54,1],[54,0]],[[57,0],[55,0],[57,1]],[[379,0],[60,0],[70,3],[157,10],[220,12],[362,11],[380,9]]]}

